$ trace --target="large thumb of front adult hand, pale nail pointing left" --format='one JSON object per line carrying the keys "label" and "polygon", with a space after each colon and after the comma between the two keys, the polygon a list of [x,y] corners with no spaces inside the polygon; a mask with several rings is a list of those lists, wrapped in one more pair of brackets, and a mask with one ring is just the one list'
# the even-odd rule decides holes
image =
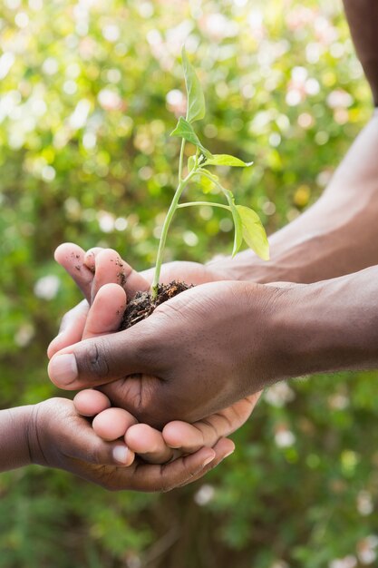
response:
{"label": "large thumb of front adult hand, pale nail pointing left", "polygon": [[79,390],[136,373],[159,377],[164,354],[154,321],[152,315],[131,329],[84,339],[62,349],[48,366],[53,384],[65,390]]}

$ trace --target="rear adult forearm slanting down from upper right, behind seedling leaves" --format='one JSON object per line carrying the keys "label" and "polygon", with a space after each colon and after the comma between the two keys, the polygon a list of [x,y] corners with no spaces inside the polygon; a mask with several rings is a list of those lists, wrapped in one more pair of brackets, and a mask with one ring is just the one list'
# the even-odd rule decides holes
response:
{"label": "rear adult forearm slanting down from upper right, behind seedling leaves", "polygon": [[271,260],[250,250],[213,261],[230,279],[314,282],[378,264],[378,114],[363,129],[323,196],[269,239]]}

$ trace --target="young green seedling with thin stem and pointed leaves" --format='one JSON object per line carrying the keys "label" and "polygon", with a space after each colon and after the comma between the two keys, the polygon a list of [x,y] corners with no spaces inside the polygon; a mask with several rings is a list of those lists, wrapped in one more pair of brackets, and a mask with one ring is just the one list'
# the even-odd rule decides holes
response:
{"label": "young green seedling with thin stem and pointed leaves", "polygon": [[[240,249],[243,240],[245,240],[247,245],[254,250],[259,257],[263,260],[269,259],[267,234],[257,213],[244,205],[237,205],[232,192],[221,185],[217,175],[208,171],[208,166],[248,167],[252,165],[252,162],[242,162],[235,156],[230,156],[228,154],[212,154],[211,152],[208,152],[208,150],[200,142],[198,135],[193,129],[192,123],[202,120],[205,117],[205,96],[199,83],[199,78],[194,71],[194,68],[189,63],[185,47],[182,48],[182,66],[188,98],[187,115],[186,118],[180,116],[176,128],[173,132],[170,132],[170,136],[178,136],[181,138],[181,150],[179,152],[179,184],[173,195],[173,199],[170,203],[170,209],[161,230],[155,274],[152,282],[152,300],[158,297],[160,270],[167,234],[170,229],[170,223],[175,212],[180,208],[192,207],[194,205],[209,205],[211,207],[220,207],[230,211],[235,225],[232,256],[234,257],[237,254],[237,250]],[[186,142],[190,142],[196,147],[196,153],[189,156],[188,172],[184,177],[184,150]],[[186,203],[179,203],[182,192],[189,183],[192,181],[199,181],[201,177],[206,178],[218,187],[218,190],[226,197],[228,205],[211,201],[190,201]]]}

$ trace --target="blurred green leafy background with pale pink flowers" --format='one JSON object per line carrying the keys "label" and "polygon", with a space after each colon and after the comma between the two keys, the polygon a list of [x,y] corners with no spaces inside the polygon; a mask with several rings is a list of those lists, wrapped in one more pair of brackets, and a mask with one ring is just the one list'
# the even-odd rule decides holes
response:
{"label": "blurred green leafy background with pale pink flowers", "polygon": [[[55,394],[45,348],[80,299],[64,240],[153,264],[176,177],[186,41],[212,152],[268,232],[316,200],[371,114],[333,0],[5,0],[0,7],[2,406]],[[176,116],[175,116],[176,115]],[[172,167],[174,166],[174,167]],[[181,211],[167,259],[229,253],[223,211]],[[270,389],[235,455],[168,495],[108,494],[32,466],[0,478],[0,568],[375,565],[375,372]]]}

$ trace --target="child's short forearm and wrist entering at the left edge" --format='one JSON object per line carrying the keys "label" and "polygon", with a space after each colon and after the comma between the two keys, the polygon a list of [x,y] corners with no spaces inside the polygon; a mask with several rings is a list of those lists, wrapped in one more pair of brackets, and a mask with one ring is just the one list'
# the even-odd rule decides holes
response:
{"label": "child's short forearm and wrist entering at the left edge", "polygon": [[29,428],[34,406],[0,410],[0,471],[31,463]]}

